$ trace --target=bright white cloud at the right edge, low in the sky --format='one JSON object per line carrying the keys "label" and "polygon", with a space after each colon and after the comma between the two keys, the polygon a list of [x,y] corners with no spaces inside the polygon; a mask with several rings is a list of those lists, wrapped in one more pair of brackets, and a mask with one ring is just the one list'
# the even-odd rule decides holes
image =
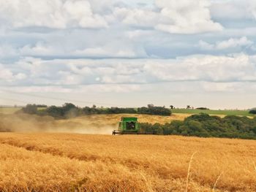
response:
{"label": "bright white cloud at the right edge, low in the sky", "polygon": [[146,65],[146,71],[165,81],[208,81],[236,82],[255,81],[255,57],[248,55],[227,56],[191,56],[175,63],[161,62]]}

